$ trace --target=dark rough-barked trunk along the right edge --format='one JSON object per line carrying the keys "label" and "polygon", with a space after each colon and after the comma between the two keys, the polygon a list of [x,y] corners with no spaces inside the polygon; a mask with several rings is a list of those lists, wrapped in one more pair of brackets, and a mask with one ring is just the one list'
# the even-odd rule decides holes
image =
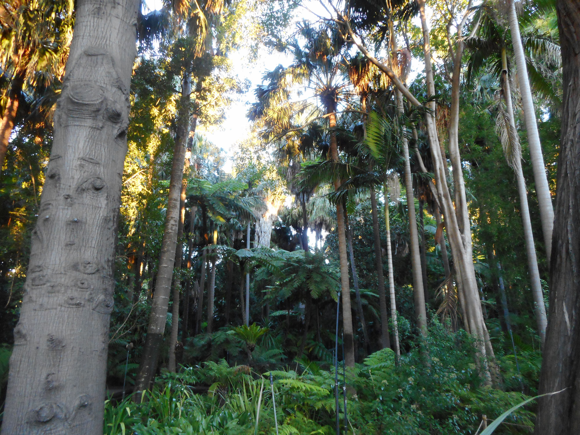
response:
{"label": "dark rough-barked trunk along the right edge", "polygon": [[[580,2],[556,4],[562,50],[561,137],[550,303],[536,435],[580,433]],[[5,415],[8,415],[5,413]]]}

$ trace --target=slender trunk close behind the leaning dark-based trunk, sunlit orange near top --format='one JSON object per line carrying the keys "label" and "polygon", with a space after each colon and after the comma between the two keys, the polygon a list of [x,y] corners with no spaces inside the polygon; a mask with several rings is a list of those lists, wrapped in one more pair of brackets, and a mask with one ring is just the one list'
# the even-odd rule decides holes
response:
{"label": "slender trunk close behind the leaning dark-based trunk, sunlit orange near top", "polygon": [[[187,160],[186,160],[187,161]],[[177,367],[175,349],[179,333],[179,295],[181,293],[181,266],[183,258],[183,222],[185,220],[185,197],[187,179],[182,181],[182,190],[179,200],[179,224],[177,227],[177,247],[175,248],[175,273],[173,274],[173,303],[171,305],[171,335],[169,336],[168,371],[175,373]]]}

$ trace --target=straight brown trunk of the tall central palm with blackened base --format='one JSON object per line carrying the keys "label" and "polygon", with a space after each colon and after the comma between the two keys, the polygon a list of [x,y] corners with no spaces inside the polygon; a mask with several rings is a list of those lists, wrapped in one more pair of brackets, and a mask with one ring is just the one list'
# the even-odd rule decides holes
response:
{"label": "straight brown trunk of the tall central palm with blackened base", "polygon": [[[330,128],[336,126],[336,115],[334,108],[328,107],[328,121]],[[330,135],[330,152],[333,162],[338,162],[338,144],[336,135],[331,131]],[[338,190],[340,180],[335,180],[334,188]],[[346,229],[345,216],[343,215],[342,204],[336,204],[336,231],[338,233],[338,247],[340,255],[340,288],[342,292],[342,324],[343,340],[345,343],[345,363],[347,367],[354,367],[354,342],[353,342],[353,313],[350,305],[350,288],[349,288],[349,261],[346,254]]]}

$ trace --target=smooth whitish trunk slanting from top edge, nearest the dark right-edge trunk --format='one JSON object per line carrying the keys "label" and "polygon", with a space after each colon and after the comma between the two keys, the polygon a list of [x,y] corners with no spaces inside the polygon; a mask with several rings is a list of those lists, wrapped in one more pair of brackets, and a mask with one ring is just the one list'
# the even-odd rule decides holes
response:
{"label": "smooth whitish trunk slanting from top edge, nearest the dark right-edge trunk", "polygon": [[[554,227],[552,195],[550,194],[546,166],[543,161],[542,145],[538,134],[538,123],[536,122],[528,69],[525,66],[524,47],[521,42],[520,24],[517,20],[516,5],[514,0],[506,0],[506,2],[509,26],[512,31],[513,53],[514,57],[516,57],[517,79],[520,84],[521,105],[524,110],[525,129],[528,133],[528,148],[530,149],[530,160],[532,169],[534,170],[536,195],[538,195],[542,232],[544,244],[546,245],[546,258],[549,260],[552,252],[552,229]],[[564,58],[562,57],[562,59]]]}

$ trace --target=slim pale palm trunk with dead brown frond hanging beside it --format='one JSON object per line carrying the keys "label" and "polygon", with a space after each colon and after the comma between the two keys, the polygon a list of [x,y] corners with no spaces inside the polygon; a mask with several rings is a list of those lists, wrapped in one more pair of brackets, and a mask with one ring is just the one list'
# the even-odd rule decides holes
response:
{"label": "slim pale palm trunk with dead brown frond hanging beside it", "polygon": [[[507,58],[505,49],[502,50],[502,66],[503,66],[503,93],[506,102],[507,117],[509,118],[509,125],[506,127],[508,131],[512,131],[512,135],[517,135],[516,123],[513,116],[512,94],[510,93],[509,77],[507,75]],[[512,135],[509,135],[511,137]],[[538,334],[541,339],[542,347],[546,339],[546,326],[548,325],[548,318],[546,318],[546,306],[544,304],[542,282],[540,281],[540,274],[538,270],[538,259],[536,258],[536,247],[534,244],[534,233],[532,233],[532,222],[530,220],[530,209],[528,208],[528,192],[525,187],[524,173],[521,168],[521,150],[520,144],[512,143],[512,147],[517,147],[516,158],[513,160],[514,172],[517,178],[517,191],[520,195],[520,213],[523,223],[525,251],[528,258],[528,269],[530,271],[530,285],[532,289],[532,296],[535,303],[536,324],[538,325]],[[515,150],[515,149],[514,149]]]}

